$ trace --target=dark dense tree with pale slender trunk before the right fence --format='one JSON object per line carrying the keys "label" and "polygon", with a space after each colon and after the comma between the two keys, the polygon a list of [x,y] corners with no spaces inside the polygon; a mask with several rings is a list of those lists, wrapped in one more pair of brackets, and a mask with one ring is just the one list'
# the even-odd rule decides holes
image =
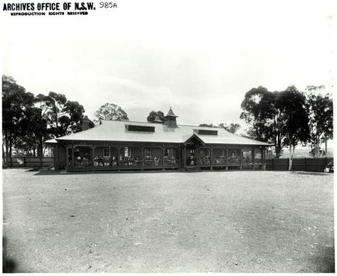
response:
{"label": "dark dense tree with pale slender trunk before the right fence", "polygon": [[294,85],[279,94],[277,107],[284,117],[284,145],[289,146],[289,171],[294,158],[295,147],[309,140],[309,115],[306,98]]}

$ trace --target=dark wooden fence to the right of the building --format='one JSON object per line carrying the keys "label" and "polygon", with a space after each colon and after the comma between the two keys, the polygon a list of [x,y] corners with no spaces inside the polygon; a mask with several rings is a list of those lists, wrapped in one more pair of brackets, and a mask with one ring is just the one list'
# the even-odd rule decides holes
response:
{"label": "dark wooden fence to the right of the building", "polygon": [[[324,171],[326,165],[331,162],[333,165],[333,158],[294,158],[292,161],[291,171]],[[288,171],[289,159],[267,159],[266,169],[274,171]]]}

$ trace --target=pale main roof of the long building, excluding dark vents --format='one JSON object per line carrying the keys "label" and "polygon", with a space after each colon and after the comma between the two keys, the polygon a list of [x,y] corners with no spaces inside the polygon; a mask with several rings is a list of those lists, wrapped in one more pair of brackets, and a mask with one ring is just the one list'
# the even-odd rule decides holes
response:
{"label": "pale main roof of the long building, excluding dark vents", "polygon": [[[197,127],[179,125],[169,127],[166,124],[151,122],[128,122],[102,120],[102,124],[92,129],[56,138],[57,141],[111,141],[111,142],[161,142],[183,143],[196,135],[205,144],[243,144],[270,146],[270,144],[247,139],[228,132],[220,127]],[[154,132],[130,131],[127,125],[154,127]],[[218,130],[218,135],[196,134],[196,129]]]}

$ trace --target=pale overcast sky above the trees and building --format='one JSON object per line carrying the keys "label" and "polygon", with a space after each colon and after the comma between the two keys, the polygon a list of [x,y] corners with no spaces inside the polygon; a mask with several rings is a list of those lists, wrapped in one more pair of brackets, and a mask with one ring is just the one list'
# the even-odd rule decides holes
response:
{"label": "pale overcast sky above the trees and building", "polygon": [[242,130],[252,87],[333,85],[333,1],[94,3],[88,16],[1,12],[3,74],[36,95],[65,94],[91,120],[112,102],[132,121],[172,107],[178,124]]}

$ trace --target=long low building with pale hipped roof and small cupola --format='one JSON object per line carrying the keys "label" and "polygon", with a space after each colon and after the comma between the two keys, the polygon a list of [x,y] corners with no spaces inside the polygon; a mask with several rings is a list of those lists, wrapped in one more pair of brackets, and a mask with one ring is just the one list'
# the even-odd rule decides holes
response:
{"label": "long low building with pale hipped roof and small cupola", "polygon": [[269,144],[219,127],[177,124],[170,108],[165,120],[102,120],[92,129],[48,140],[55,169],[265,169]]}

